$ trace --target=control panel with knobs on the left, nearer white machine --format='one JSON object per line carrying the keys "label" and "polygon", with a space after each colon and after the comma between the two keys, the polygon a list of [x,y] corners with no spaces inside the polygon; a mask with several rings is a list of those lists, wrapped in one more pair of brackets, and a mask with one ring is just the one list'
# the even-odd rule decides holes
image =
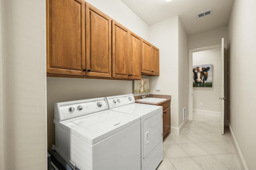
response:
{"label": "control panel with knobs on the left, nearer white machine", "polygon": [[108,109],[105,98],[60,102],[54,105],[54,119],[63,121]]}

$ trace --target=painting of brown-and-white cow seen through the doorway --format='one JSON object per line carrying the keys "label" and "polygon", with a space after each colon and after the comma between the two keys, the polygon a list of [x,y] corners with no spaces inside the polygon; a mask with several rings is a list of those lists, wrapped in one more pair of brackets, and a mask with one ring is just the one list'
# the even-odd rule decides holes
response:
{"label": "painting of brown-and-white cow seen through the doorway", "polygon": [[193,87],[212,87],[212,64],[193,66]]}

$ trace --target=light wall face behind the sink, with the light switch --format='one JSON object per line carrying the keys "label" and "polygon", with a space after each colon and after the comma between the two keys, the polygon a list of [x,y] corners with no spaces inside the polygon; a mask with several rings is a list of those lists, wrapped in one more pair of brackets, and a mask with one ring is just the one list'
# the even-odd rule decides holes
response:
{"label": "light wall face behind the sink, with the light switch", "polygon": [[150,26],[150,35],[160,55],[160,76],[150,77],[150,93],[172,95],[171,126],[178,127],[178,16]]}

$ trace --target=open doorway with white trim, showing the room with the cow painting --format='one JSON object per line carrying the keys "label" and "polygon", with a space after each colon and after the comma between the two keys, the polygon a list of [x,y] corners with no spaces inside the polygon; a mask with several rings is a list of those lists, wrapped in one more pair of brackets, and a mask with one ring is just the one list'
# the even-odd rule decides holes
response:
{"label": "open doorway with white trim, showing the room with the cow painting", "polygon": [[[208,78],[205,87],[192,86],[194,79],[192,70],[195,66],[209,64],[212,67],[208,71]],[[194,66],[194,67],[193,67]],[[189,114],[188,119],[193,120],[193,112],[198,114],[207,112],[209,114],[220,115],[221,103],[218,100],[221,93],[221,45],[213,45],[192,49],[189,51]],[[207,87],[212,84],[212,87]]]}

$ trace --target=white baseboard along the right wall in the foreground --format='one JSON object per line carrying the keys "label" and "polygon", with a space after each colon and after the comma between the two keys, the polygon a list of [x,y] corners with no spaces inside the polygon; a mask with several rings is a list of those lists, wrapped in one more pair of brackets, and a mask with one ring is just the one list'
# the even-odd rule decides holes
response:
{"label": "white baseboard along the right wall in the foreground", "polygon": [[232,139],[234,148],[235,148],[235,150],[236,150],[236,155],[237,155],[237,157],[238,157],[238,161],[239,161],[239,163],[240,163],[241,169],[242,169],[242,170],[249,170],[249,169],[248,169],[248,166],[247,166],[247,164],[246,164],[246,162],[245,162],[245,160],[244,160],[244,156],[243,156],[243,154],[242,154],[242,152],[241,152],[241,150],[240,150],[240,147],[238,146],[238,143],[237,143],[237,141],[236,141],[236,137],[235,137],[235,135],[234,135],[234,133],[233,133],[233,130],[232,130],[230,124],[228,125],[228,127],[229,127],[229,129],[230,129],[230,133],[231,133],[230,137],[231,137],[231,139]]}

